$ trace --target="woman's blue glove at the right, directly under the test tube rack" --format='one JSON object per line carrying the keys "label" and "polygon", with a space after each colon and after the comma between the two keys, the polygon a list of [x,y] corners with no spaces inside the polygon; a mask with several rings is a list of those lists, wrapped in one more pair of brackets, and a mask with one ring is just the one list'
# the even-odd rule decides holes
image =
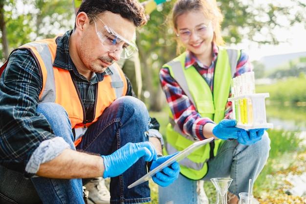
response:
{"label": "woman's blue glove at the right, directly under the test tube rack", "polygon": [[245,131],[243,129],[238,132],[238,142],[244,145],[255,144],[262,139],[262,135],[265,129],[251,129]]}

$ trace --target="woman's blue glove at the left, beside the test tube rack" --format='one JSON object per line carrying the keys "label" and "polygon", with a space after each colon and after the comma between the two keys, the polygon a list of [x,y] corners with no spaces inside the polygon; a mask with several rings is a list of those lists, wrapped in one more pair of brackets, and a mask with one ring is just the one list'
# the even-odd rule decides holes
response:
{"label": "woman's blue glove at the left, beside the test tube rack", "polygon": [[237,120],[223,119],[213,129],[213,134],[219,139],[237,139],[240,128],[236,128]]}

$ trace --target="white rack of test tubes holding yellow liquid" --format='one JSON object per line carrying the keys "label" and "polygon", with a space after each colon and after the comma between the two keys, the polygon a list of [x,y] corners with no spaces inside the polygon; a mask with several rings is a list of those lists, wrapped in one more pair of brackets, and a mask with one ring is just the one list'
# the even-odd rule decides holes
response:
{"label": "white rack of test tubes holding yellow liquid", "polygon": [[265,98],[269,93],[255,93],[254,72],[245,72],[231,81],[233,115],[236,127],[250,130],[258,128],[273,128],[267,123],[265,111]]}

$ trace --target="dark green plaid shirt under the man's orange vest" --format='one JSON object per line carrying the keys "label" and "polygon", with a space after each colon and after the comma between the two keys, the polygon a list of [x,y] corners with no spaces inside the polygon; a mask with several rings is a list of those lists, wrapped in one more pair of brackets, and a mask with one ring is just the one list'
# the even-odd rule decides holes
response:
{"label": "dark green plaid shirt under the man's orange vest", "polygon": [[[72,31],[67,31],[63,37],[57,39],[54,66],[70,71],[76,81],[87,117],[92,118],[95,84],[111,71],[107,68],[104,73],[93,73],[90,81],[80,75],[69,55],[68,42],[71,33]],[[131,83],[128,79],[127,81],[126,95],[134,96]],[[29,176],[36,173],[35,168],[40,164],[36,163],[35,167],[28,164],[38,147],[42,149],[43,146],[48,146],[49,149],[49,152],[35,152],[38,157],[42,157],[41,161],[51,160],[69,148],[62,138],[53,134],[46,118],[36,113],[42,87],[41,75],[32,54],[26,49],[14,51],[0,78],[0,165],[20,172],[26,170]]]}

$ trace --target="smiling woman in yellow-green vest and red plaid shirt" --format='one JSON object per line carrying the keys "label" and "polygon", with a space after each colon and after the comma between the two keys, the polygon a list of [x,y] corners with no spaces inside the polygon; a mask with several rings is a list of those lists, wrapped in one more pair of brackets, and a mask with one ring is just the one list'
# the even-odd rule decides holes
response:
{"label": "smiling woman in yellow-green vest and red plaid shirt", "polygon": [[237,204],[238,194],[248,192],[249,179],[256,180],[268,158],[264,129],[245,131],[231,119],[231,78],[251,68],[243,50],[222,47],[222,20],[216,0],[175,2],[172,23],[186,51],[159,73],[171,109],[165,151],[173,154],[199,139],[215,141],[180,162],[179,178],[159,188],[159,204],[200,203],[197,181],[217,177],[233,179],[227,198],[228,204]]}

